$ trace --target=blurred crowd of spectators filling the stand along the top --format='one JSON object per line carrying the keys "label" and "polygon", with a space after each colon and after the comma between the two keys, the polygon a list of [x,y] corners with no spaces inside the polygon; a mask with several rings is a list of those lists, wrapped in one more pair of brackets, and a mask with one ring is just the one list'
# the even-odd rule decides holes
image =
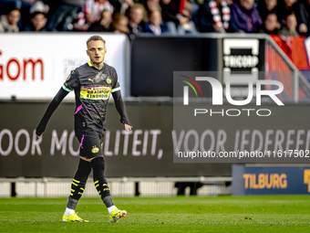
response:
{"label": "blurred crowd of spectators filling the stand along the top", "polygon": [[0,0],[0,32],[310,36],[310,0]]}

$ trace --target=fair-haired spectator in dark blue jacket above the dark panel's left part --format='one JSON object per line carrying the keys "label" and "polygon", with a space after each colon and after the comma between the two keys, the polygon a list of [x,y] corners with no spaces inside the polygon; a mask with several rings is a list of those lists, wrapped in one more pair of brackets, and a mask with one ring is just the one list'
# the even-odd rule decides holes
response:
{"label": "fair-haired spectator in dark blue jacket above the dark panel's left part", "polygon": [[152,33],[156,36],[160,36],[162,33],[167,32],[167,27],[163,26],[162,18],[159,10],[155,10],[150,13],[150,23],[146,23],[144,26],[144,32]]}

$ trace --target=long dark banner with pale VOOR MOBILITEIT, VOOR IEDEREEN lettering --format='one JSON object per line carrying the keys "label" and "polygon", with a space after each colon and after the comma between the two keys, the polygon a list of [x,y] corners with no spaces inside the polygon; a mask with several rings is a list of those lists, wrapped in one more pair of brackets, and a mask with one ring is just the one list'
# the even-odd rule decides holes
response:
{"label": "long dark banner with pale VOOR MOBILITEIT, VOOR IEDEREEN lettering", "polygon": [[[47,105],[0,102],[0,177],[70,177],[76,171],[75,104],[63,102],[37,140],[35,129]],[[232,164],[310,161],[307,105],[264,106],[272,112],[268,118],[257,116],[269,111],[255,105],[247,107],[253,109],[251,117],[244,108],[209,106],[209,114],[195,121],[188,109],[181,111],[178,128],[173,128],[172,102],[126,102],[126,108],[133,125],[130,132],[124,131],[119,113],[109,104],[103,141],[108,176],[230,176]],[[226,115],[236,114],[236,109],[240,117]]]}

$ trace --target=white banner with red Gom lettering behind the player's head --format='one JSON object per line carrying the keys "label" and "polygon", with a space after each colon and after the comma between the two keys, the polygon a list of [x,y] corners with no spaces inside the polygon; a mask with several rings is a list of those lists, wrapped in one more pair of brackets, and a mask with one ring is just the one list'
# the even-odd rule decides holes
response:
{"label": "white banner with red Gom lettering behind the player's head", "polygon": [[[106,40],[105,62],[119,76],[128,95],[129,39],[123,34],[98,34]],[[92,33],[19,33],[0,37],[0,100],[51,100],[70,71],[89,61],[86,41]],[[74,96],[67,97],[74,99]]]}

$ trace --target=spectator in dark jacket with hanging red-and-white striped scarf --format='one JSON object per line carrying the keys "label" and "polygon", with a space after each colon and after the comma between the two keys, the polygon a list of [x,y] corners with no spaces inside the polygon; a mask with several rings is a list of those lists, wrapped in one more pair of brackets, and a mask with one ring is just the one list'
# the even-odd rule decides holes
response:
{"label": "spectator in dark jacket with hanging red-and-white striped scarf", "polygon": [[234,32],[238,28],[232,25],[231,9],[225,0],[205,1],[198,12],[200,32]]}

